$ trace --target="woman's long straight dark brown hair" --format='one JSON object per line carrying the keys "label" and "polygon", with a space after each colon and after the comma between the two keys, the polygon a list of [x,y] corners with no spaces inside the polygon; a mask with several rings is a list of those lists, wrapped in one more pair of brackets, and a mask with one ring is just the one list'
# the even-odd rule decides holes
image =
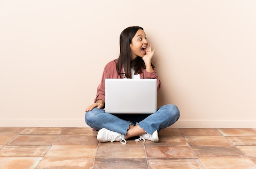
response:
{"label": "woman's long straight dark brown hair", "polygon": [[[130,68],[133,67],[136,74],[142,73],[142,68],[146,69],[145,63],[141,57],[137,57],[131,61],[131,53],[130,53],[130,44],[132,43],[132,38],[135,36],[137,31],[142,27],[128,27],[124,29],[124,31],[120,34],[120,54],[117,61],[117,73],[121,77],[121,67],[124,66],[124,72],[126,78],[132,78]],[[154,65],[152,64],[154,68]]]}

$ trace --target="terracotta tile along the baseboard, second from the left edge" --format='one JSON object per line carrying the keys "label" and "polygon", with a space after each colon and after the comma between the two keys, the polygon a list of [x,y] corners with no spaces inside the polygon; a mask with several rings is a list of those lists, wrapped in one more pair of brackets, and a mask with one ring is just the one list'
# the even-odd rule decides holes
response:
{"label": "terracotta tile along the baseboard, second from the left edge", "polygon": [[61,127],[27,127],[22,135],[59,135],[64,128]]}

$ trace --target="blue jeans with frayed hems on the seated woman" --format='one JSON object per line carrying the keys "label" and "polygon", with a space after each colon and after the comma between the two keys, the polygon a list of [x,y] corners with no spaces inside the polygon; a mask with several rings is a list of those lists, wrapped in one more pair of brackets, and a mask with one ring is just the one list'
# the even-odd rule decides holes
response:
{"label": "blue jeans with frayed hems on the seated woman", "polygon": [[153,114],[110,114],[95,107],[85,113],[85,122],[96,130],[106,128],[124,135],[130,124],[138,124],[146,132],[153,134],[156,130],[171,126],[179,117],[180,111],[175,105],[164,105]]}

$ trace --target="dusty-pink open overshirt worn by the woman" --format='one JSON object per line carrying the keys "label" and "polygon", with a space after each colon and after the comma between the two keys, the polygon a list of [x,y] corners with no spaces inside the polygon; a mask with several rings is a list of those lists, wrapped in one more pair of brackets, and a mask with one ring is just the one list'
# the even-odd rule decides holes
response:
{"label": "dusty-pink open overshirt worn by the woman", "polygon": [[[112,60],[109,62],[103,71],[102,78],[101,78],[101,83],[97,87],[97,95],[96,98],[94,99],[94,103],[97,102],[97,100],[103,100],[105,102],[105,79],[120,79],[124,78],[124,74],[121,74],[121,77],[117,73],[116,69],[116,60]],[[124,73],[124,69],[121,69],[121,73]],[[157,79],[157,90],[161,87],[161,82],[157,76],[157,72],[148,72],[145,69],[142,70],[142,73],[139,74],[141,79]]]}

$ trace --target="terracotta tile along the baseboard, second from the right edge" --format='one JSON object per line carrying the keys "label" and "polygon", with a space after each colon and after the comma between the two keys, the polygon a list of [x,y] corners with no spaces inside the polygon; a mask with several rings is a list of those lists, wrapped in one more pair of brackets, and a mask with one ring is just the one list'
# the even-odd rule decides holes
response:
{"label": "terracotta tile along the baseboard, second from the right edge", "polygon": [[217,129],[179,128],[183,136],[222,136]]}

